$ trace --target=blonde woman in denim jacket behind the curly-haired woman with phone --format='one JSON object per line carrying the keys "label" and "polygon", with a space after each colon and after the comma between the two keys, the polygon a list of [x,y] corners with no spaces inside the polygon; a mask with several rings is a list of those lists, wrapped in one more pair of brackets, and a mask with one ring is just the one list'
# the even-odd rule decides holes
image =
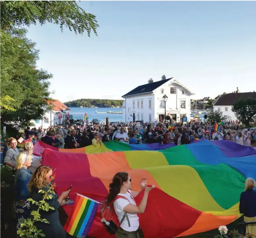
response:
{"label": "blonde woman in denim jacket behind the curly-haired woman with phone", "polygon": [[29,217],[29,198],[28,182],[32,176],[32,172],[28,171],[28,167],[31,166],[32,156],[28,152],[21,152],[16,160],[17,172],[15,174],[14,186],[15,186],[15,201],[14,208],[16,214],[17,229],[21,224],[21,219],[27,219]]}

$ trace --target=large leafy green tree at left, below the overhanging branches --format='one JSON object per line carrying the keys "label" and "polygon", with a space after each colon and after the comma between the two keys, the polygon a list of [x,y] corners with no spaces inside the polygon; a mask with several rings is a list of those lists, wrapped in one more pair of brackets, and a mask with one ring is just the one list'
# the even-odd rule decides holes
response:
{"label": "large leafy green tree at left, below the overhanging branches", "polygon": [[25,29],[1,30],[1,122],[42,119],[51,74],[38,69],[39,50]]}

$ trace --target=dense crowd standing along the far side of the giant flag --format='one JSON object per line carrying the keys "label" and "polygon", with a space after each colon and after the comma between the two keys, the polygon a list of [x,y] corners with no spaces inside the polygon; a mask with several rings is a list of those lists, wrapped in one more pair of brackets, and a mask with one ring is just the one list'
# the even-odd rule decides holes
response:
{"label": "dense crowd standing along the far side of the giant flag", "polygon": [[[38,131],[42,131],[39,128]],[[101,146],[102,142],[116,140],[127,144],[190,144],[196,140],[230,140],[240,145],[256,146],[256,128],[242,128],[238,124],[228,124],[220,126],[214,130],[214,125],[209,123],[105,123],[99,125],[89,124],[85,127],[57,126],[49,127],[46,134],[38,137],[46,144],[60,148],[74,149],[94,145]],[[28,136],[37,136],[37,131],[27,132]],[[41,139],[40,139],[41,138]]]}

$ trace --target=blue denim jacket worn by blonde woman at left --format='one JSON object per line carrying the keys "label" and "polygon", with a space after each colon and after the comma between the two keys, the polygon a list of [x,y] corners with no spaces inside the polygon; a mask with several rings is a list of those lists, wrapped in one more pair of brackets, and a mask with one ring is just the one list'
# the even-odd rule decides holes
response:
{"label": "blue denim jacket worn by blonde woman at left", "polygon": [[26,168],[20,168],[15,175],[15,200],[27,200],[29,198],[28,182],[32,176],[32,172]]}

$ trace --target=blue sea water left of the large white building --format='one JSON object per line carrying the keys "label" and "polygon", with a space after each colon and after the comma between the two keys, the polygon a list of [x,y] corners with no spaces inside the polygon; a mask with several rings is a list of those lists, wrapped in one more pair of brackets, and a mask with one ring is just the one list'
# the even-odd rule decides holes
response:
{"label": "blue sea water left of the large white building", "polygon": [[106,122],[106,117],[109,117],[109,122],[119,122],[123,120],[123,114],[112,113],[95,113],[97,112],[123,112],[122,108],[69,108],[70,115],[73,115],[73,119],[84,119],[85,112],[87,113],[89,122],[92,119],[98,119],[101,122]]}

